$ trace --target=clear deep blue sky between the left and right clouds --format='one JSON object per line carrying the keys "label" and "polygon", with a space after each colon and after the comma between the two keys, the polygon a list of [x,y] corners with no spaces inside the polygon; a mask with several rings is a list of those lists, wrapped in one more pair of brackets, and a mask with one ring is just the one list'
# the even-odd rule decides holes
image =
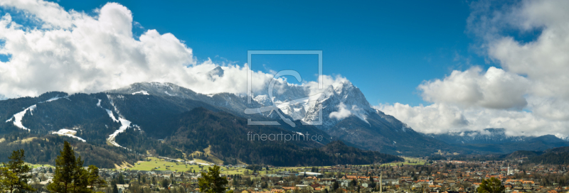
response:
{"label": "clear deep blue sky between the left and right clouds", "polygon": [[[373,105],[428,104],[416,89],[422,81],[486,65],[470,48],[464,1],[117,2],[145,29],[184,40],[198,60],[243,64],[247,50],[323,50],[324,74],[347,77]],[[58,1],[87,13],[106,3]],[[315,80],[314,58],[259,56],[252,63],[253,70],[292,69]]]}

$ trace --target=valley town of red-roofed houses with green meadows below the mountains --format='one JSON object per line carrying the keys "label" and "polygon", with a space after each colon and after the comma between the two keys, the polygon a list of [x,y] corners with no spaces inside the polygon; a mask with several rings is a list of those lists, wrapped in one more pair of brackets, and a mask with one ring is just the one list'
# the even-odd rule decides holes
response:
{"label": "valley town of red-roofed houses with green meadows below the mountains", "polygon": [[[100,169],[109,183],[97,192],[200,192],[198,179],[214,165],[154,158],[140,161],[164,163],[151,170]],[[169,170],[171,168],[188,170]],[[189,167],[188,167],[189,166]],[[383,165],[326,167],[274,167],[270,165],[218,165],[227,189],[238,193],[261,192],[477,192],[482,180],[494,177],[505,192],[568,192],[569,165],[536,165],[521,160],[457,161],[405,160]],[[192,169],[194,168],[194,169]],[[198,169],[198,170],[196,170]],[[38,192],[47,192],[53,177],[50,167],[32,170]],[[111,183],[112,182],[112,183]]]}

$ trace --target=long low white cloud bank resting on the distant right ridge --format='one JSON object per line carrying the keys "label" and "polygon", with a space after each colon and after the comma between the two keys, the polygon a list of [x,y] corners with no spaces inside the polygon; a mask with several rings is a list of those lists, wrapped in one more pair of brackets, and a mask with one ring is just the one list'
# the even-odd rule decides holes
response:
{"label": "long low white cloud bank resting on the distant right ridge", "polygon": [[484,128],[506,128],[509,136],[542,136],[568,133],[568,121],[556,121],[536,116],[527,111],[501,109],[461,109],[448,104],[409,106],[407,104],[380,104],[376,109],[408,123],[422,133],[448,131],[483,131]]}

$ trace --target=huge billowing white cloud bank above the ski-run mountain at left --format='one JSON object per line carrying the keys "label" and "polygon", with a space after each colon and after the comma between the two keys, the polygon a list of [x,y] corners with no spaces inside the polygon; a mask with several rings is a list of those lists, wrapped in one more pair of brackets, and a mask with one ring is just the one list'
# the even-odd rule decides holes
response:
{"label": "huge billowing white cloud bank above the ski-run mountain at left", "polygon": [[[1,8],[38,23],[28,28],[6,13],[0,18],[0,94],[37,96],[49,91],[101,92],[134,82],[172,82],[201,93],[245,93],[247,67],[223,66],[225,75],[208,79],[216,66],[197,62],[192,49],[171,33],[147,30],[132,34],[132,12],[108,3],[95,16],[65,11],[58,4],[39,1],[1,1]],[[252,73],[253,89],[272,78]]]}

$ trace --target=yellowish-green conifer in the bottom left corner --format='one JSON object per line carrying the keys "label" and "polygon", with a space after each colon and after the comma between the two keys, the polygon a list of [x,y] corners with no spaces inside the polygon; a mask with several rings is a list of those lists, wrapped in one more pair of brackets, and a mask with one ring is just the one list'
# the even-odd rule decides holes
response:
{"label": "yellowish-green conifer in the bottom left corner", "polygon": [[8,164],[2,163],[5,165],[1,173],[3,187],[5,187],[9,193],[36,191],[36,189],[28,184],[30,176],[27,175],[27,173],[31,171],[31,168],[23,161],[26,160],[23,150],[15,150],[9,159]]}

